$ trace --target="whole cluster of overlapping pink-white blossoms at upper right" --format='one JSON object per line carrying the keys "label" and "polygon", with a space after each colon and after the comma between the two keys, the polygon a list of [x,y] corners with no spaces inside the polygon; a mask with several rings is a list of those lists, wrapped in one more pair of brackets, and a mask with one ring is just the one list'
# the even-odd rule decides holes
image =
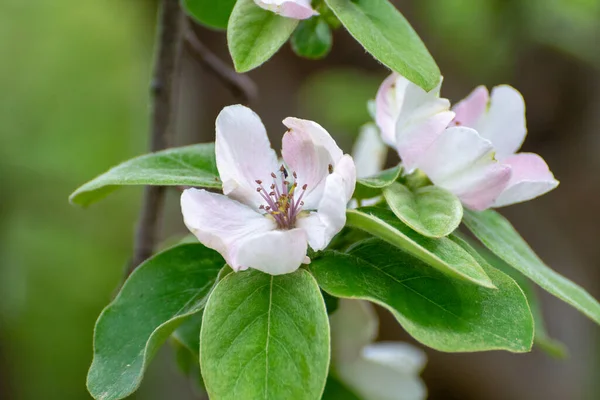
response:
{"label": "whole cluster of overlapping pink-white blossoms at upper right", "polygon": [[420,169],[473,210],[538,197],[558,185],[537,154],[518,153],[525,102],[510,86],[478,87],[450,111],[440,85],[426,92],[392,74],[377,93],[375,121],[407,172]]}

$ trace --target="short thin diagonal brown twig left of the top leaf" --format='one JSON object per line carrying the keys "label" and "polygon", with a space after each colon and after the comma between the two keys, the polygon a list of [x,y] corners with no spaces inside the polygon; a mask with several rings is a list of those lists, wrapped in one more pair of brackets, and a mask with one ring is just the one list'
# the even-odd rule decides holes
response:
{"label": "short thin diagonal brown twig left of the top leaf", "polygon": [[248,76],[238,74],[206,47],[188,24],[185,44],[190,54],[225,85],[242,104],[251,105],[258,98],[256,83]]}

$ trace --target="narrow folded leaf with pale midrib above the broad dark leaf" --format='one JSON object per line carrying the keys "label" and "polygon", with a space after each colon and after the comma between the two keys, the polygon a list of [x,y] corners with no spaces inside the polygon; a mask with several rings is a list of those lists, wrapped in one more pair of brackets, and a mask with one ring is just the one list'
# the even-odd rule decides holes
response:
{"label": "narrow folded leaf with pale midrib above the broad dark leaf", "polygon": [[404,225],[394,213],[382,208],[346,211],[347,224],[402,249],[431,267],[477,285],[494,288],[494,284],[477,261],[448,238],[422,236]]}

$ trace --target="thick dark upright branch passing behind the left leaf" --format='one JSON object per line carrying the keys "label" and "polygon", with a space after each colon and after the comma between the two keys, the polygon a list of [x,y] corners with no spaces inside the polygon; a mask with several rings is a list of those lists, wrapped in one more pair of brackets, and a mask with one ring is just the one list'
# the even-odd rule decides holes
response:
{"label": "thick dark upright branch passing behind the left leaf", "polygon": [[[173,141],[174,82],[181,58],[184,17],[179,0],[161,0],[158,48],[151,84],[150,150],[167,148]],[[133,258],[127,275],[152,255],[157,241],[157,225],[162,215],[165,188],[147,186],[136,228]]]}

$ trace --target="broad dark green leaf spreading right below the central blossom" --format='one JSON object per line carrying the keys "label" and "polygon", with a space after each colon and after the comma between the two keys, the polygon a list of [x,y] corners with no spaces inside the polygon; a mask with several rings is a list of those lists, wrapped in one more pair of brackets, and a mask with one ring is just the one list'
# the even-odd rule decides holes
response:
{"label": "broad dark green leaf spreading right below the central blossom", "polygon": [[523,292],[502,272],[483,268],[498,289],[451,279],[374,238],[349,254],[325,252],[310,264],[323,290],[382,305],[410,335],[436,350],[529,351],[533,320]]}

